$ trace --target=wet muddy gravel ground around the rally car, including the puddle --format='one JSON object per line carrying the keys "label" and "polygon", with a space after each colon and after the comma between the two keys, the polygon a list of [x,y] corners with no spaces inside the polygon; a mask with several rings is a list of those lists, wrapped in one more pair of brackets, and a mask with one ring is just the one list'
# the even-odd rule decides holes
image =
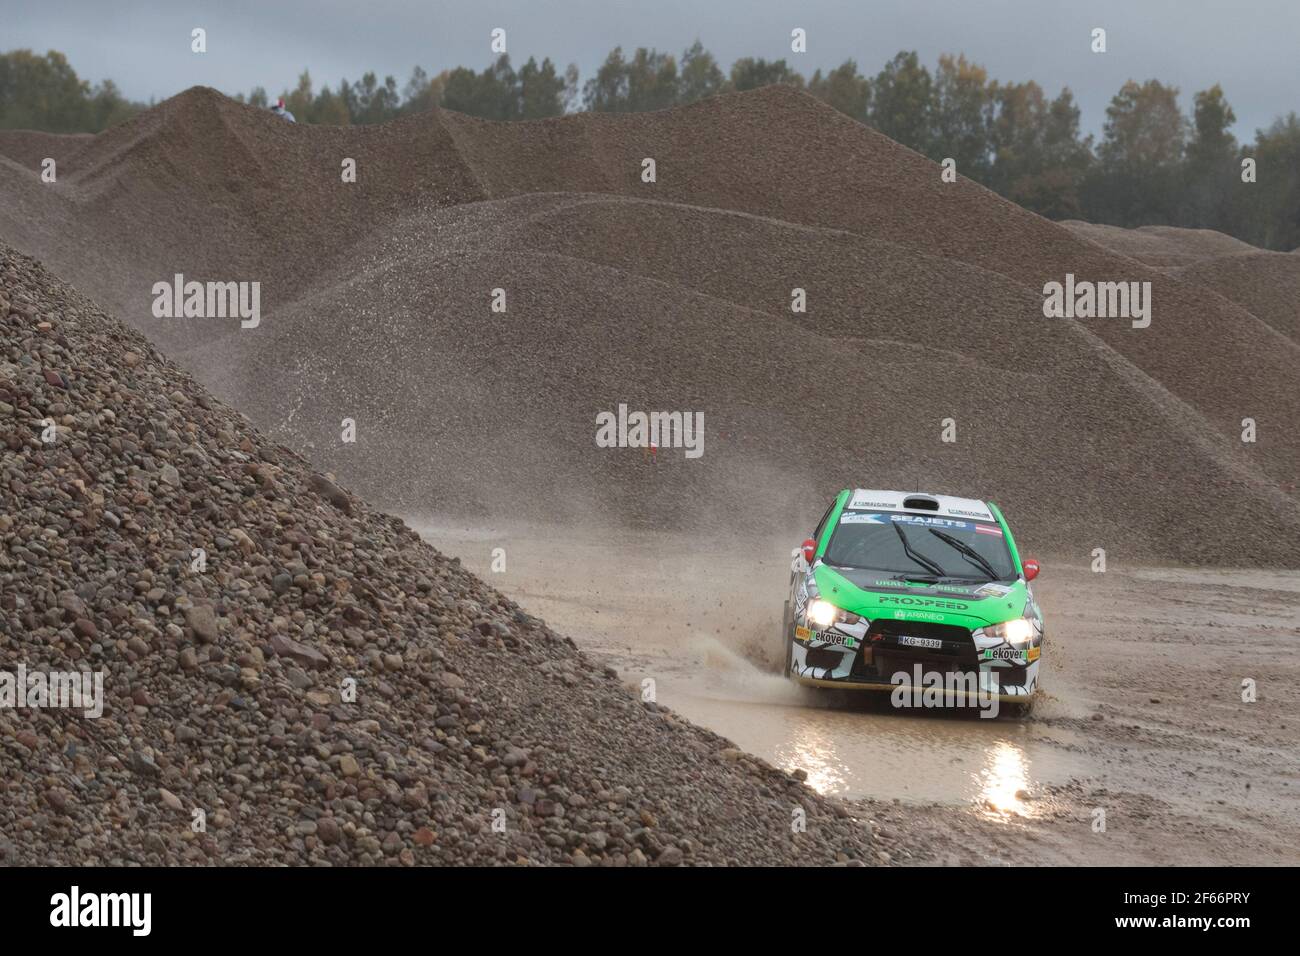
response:
{"label": "wet muddy gravel ground around the rally car, including the puddle", "polygon": [[630,688],[857,801],[897,862],[1300,860],[1300,574],[1040,555],[1045,692],[980,719],[777,676],[797,532],[412,525]]}

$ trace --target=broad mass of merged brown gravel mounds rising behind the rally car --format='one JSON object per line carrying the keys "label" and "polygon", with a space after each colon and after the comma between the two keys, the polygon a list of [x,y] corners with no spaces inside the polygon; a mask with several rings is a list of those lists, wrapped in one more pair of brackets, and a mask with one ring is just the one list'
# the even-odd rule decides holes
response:
{"label": "broad mass of merged brown gravel mounds rising behind the rally car", "polygon": [[[1074,559],[1300,563],[1300,346],[1132,258],[1235,241],[1048,222],[797,91],[330,129],[195,88],[68,148],[0,165],[0,235],[385,507],[806,531],[919,485]],[[261,281],[261,326],[155,319],[176,272]],[[1044,319],[1066,273],[1152,282],[1150,328]],[[598,449],[620,403],[703,412],[703,458]]]}

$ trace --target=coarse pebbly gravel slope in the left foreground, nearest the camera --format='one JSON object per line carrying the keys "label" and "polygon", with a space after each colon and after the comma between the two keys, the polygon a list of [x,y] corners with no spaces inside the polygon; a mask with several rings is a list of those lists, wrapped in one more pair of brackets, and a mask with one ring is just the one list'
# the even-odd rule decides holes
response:
{"label": "coarse pebbly gravel slope in the left foreground, nearest the camera", "polygon": [[3,245],[0,661],[105,698],[0,708],[0,862],[888,858]]}

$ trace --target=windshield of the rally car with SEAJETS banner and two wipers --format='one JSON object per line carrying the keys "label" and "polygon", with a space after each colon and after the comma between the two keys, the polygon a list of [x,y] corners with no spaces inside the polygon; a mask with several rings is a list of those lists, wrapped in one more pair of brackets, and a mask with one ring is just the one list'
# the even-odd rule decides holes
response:
{"label": "windshield of the rally car with SEAJETS banner and two wipers", "polygon": [[844,511],[822,561],[907,578],[1015,578],[1006,538],[993,522],[890,511]]}

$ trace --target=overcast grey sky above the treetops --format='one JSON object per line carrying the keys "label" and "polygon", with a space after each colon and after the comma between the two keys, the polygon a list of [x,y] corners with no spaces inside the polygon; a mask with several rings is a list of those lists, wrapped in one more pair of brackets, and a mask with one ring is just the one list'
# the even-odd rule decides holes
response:
{"label": "overcast grey sky above the treetops", "polygon": [[[208,31],[202,56],[195,26]],[[60,49],[140,100],[195,85],[274,95],[304,68],[317,85],[374,70],[400,87],[415,64],[481,69],[498,26],[516,65],[550,56],[582,81],[615,46],[680,55],[698,36],[724,69],[784,56],[805,75],[846,57],[871,75],[900,49],[933,69],[963,52],[997,79],[1069,86],[1093,133],[1128,78],[1178,86],[1184,112],[1221,83],[1244,139],[1300,111],[1300,0],[0,0],[0,49]],[[797,26],[803,55],[789,48]],[[1105,55],[1089,49],[1097,26]]]}

